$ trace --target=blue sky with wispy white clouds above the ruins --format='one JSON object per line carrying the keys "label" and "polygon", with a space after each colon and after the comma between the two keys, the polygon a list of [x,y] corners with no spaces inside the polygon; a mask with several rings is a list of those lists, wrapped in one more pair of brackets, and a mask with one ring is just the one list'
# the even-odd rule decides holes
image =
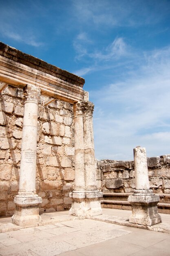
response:
{"label": "blue sky with wispy white clouds above the ruins", "polygon": [[170,0],[0,0],[0,40],[84,77],[97,159],[170,154]]}

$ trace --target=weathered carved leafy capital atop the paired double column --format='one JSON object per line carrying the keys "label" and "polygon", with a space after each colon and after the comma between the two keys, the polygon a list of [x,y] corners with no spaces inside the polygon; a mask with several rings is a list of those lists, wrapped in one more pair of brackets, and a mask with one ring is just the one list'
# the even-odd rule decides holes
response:
{"label": "weathered carved leafy capital atop the paired double column", "polygon": [[79,101],[75,103],[74,113],[78,115],[90,115],[93,116],[94,104],[91,101]]}

